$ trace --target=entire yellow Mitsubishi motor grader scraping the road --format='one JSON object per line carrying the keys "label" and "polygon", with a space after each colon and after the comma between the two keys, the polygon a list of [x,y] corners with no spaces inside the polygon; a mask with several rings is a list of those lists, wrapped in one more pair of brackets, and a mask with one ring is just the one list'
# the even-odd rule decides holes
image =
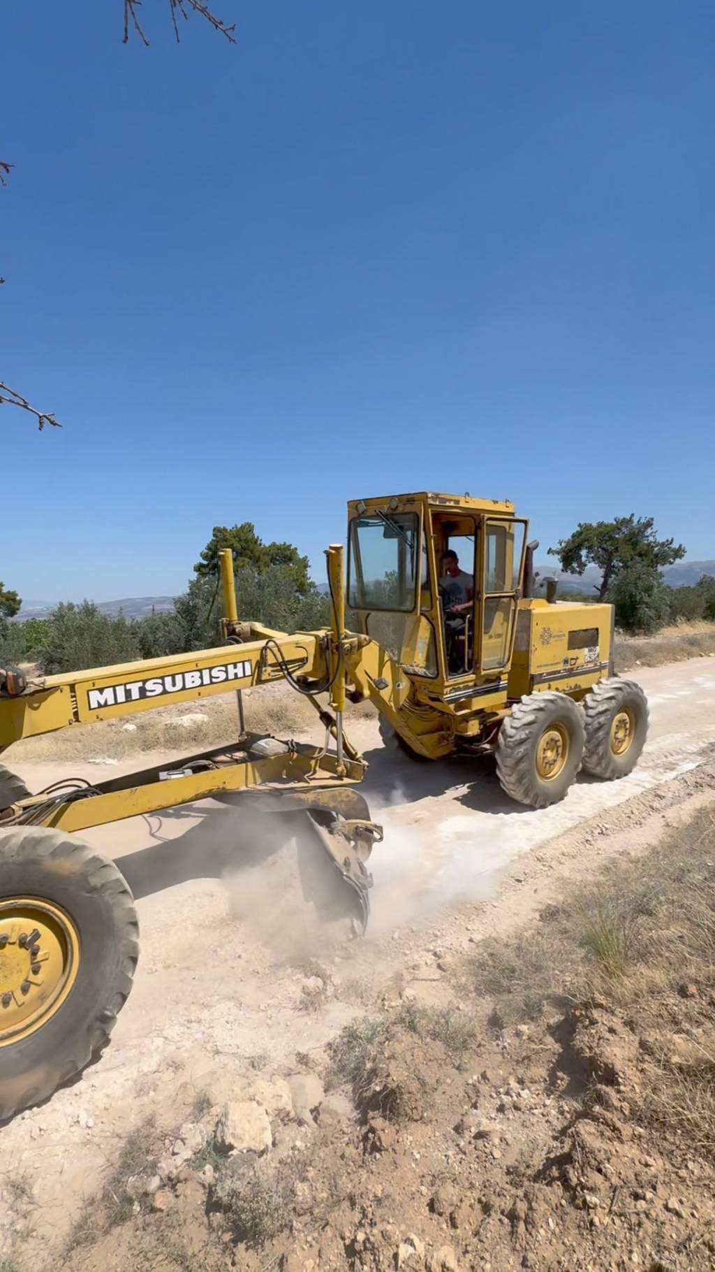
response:
{"label": "entire yellow Mitsubishi motor grader scraping the road", "polygon": [[[239,621],[222,552],[222,645],[29,683],[0,672],[0,750],[168,702],[237,695],[236,739],[166,767],[36,795],[0,770],[0,1118],[79,1072],[131,990],[133,898],[117,866],[75,832],[210,796],[302,814],[361,931],[366,862],[382,832],[354,789],[367,764],[344,731],[348,698],[370,698],[385,742],[415,759],[495,752],[504,791],[532,808],[561,799],[582,764],[613,778],[638,762],[648,710],[638,684],[613,677],[612,607],[556,602],[554,589],[532,597],[537,544],[513,504],[411,494],[348,509],[356,631],[345,630],[342,546],[326,553],[331,626],[292,635]],[[447,551],[469,576],[466,605],[448,595]],[[323,747],[245,730],[243,692],[279,679],[316,709]]]}

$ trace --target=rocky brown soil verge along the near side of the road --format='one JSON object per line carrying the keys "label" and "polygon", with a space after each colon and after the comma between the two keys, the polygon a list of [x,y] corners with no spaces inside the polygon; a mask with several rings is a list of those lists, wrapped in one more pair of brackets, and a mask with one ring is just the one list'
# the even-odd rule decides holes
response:
{"label": "rocky brown soil verge along the near side of the road", "polygon": [[[585,828],[583,876],[607,878],[625,845],[638,862],[664,832],[678,852],[697,840],[687,869],[715,889],[714,777],[706,763],[662,789],[658,814],[641,796]],[[3,1132],[5,1268],[712,1267],[712,1128],[704,1117],[698,1140],[697,1118],[654,1121],[648,1104],[665,1061],[712,1057],[712,965],[685,960],[687,979],[660,976],[635,1002],[584,992],[542,878],[574,840],[505,881],[498,908],[514,890],[531,899],[499,948],[474,917],[452,916],[437,945],[408,931],[376,960],[366,1004],[343,999],[345,949],[293,969],[306,1049],[293,1035],[201,1079],[137,1063],[118,1105],[88,1074],[17,1118]],[[504,951],[523,959],[519,941],[544,932],[563,971],[545,988],[536,959],[525,988]],[[81,1191],[70,1156],[91,1163]],[[65,1184],[52,1224],[48,1160]]]}

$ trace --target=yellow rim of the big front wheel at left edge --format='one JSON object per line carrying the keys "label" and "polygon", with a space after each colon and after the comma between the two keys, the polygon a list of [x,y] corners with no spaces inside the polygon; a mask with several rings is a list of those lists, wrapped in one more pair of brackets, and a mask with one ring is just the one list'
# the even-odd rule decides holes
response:
{"label": "yellow rim of the big front wheel at left edge", "polygon": [[47,1024],[79,967],[79,932],[63,909],[23,897],[0,901],[0,1047]]}

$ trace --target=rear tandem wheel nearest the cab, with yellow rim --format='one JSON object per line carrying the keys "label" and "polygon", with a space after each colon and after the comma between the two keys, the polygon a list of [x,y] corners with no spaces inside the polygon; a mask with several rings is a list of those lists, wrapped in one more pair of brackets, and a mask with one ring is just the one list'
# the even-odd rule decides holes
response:
{"label": "rear tandem wheel nearest the cab, with yellow rim", "polygon": [[517,702],[497,742],[502,789],[530,808],[563,799],[580,768],[583,719],[573,698],[546,691]]}

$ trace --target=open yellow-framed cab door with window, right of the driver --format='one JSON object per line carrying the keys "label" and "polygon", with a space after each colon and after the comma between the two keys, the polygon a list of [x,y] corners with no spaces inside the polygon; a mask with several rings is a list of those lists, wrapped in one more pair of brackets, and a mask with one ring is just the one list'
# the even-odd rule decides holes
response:
{"label": "open yellow-framed cab door with window, right of the driver", "polygon": [[527,522],[485,516],[480,525],[476,672],[502,672],[512,661],[517,600],[522,591]]}

